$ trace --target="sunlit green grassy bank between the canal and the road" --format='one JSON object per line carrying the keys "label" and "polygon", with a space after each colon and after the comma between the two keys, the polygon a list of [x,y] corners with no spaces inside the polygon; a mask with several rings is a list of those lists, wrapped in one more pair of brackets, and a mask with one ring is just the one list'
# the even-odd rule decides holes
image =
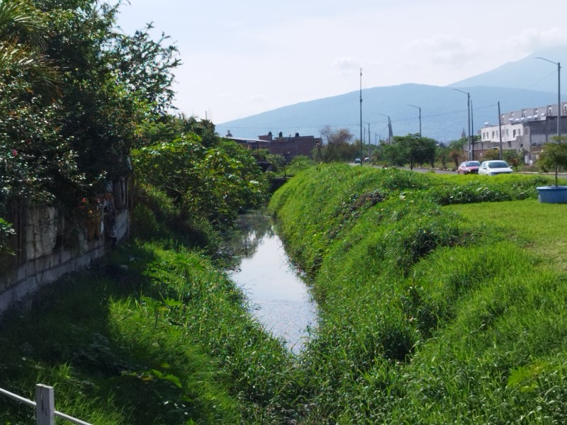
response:
{"label": "sunlit green grassy bank between the canal and the road", "polygon": [[322,309],[305,422],[566,420],[565,207],[541,183],[321,166],[276,193]]}

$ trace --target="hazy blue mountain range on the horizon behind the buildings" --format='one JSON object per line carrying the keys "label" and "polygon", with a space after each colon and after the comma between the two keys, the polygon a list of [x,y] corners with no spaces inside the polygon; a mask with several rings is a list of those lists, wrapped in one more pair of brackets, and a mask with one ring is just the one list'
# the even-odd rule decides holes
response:
{"label": "hazy blue mountain range on the horizon behind the buildings", "polygon": [[[507,63],[449,86],[401,84],[364,89],[363,138],[368,141],[370,133],[370,140],[375,143],[376,140],[388,137],[388,118],[383,115],[389,115],[394,135],[419,132],[419,111],[409,106],[415,105],[421,108],[422,135],[439,142],[457,140],[468,125],[467,96],[460,91],[470,94],[473,105],[471,120],[475,134],[484,123],[498,123],[498,102],[501,113],[556,104],[557,72],[554,74],[554,64],[534,57],[555,60],[561,58],[561,55],[565,57],[566,51],[565,48],[540,51],[523,60]],[[567,58],[563,63],[567,64]],[[269,131],[274,135],[282,132],[287,136],[298,132],[300,135],[318,137],[320,130],[325,125],[330,125],[332,128],[348,128],[358,139],[359,96],[359,91],[352,91],[284,106],[216,125],[216,130],[219,135],[225,135],[230,130],[235,137],[255,138]]]}

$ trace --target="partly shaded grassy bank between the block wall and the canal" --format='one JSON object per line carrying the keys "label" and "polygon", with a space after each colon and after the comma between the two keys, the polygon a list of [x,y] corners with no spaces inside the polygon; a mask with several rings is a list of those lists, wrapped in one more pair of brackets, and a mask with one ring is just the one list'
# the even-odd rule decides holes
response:
{"label": "partly shaded grassy bank between the block wall and the canal", "polygon": [[[181,246],[118,247],[7,314],[0,343],[1,387],[35,399],[36,383],[54,385],[57,410],[93,424],[279,423],[279,395],[294,399],[281,382],[291,356]],[[1,424],[30,421],[0,397]]]}

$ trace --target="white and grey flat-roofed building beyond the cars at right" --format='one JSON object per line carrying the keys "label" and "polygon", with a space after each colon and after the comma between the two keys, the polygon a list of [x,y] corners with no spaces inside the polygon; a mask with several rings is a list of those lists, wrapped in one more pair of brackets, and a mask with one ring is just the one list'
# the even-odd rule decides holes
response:
{"label": "white and grey flat-roofed building beyond the cars at right", "polygon": [[[533,164],[546,142],[557,135],[558,105],[524,108],[500,115],[500,124],[484,123],[480,140],[474,143],[476,159],[488,149],[513,149],[524,152],[526,164]],[[561,103],[560,132],[567,135],[567,102]]]}

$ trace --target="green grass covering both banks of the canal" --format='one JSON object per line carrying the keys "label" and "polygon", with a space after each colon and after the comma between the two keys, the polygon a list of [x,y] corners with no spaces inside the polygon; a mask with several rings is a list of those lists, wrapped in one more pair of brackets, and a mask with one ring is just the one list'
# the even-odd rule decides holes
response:
{"label": "green grass covering both banks of the canal", "polygon": [[[54,385],[57,410],[105,425],[565,423],[567,205],[537,202],[547,183],[298,173],[269,209],[320,306],[300,356],[202,249],[211,230],[168,227],[148,194],[143,238],[2,317],[0,387]],[[0,397],[1,424],[33,421]]]}

